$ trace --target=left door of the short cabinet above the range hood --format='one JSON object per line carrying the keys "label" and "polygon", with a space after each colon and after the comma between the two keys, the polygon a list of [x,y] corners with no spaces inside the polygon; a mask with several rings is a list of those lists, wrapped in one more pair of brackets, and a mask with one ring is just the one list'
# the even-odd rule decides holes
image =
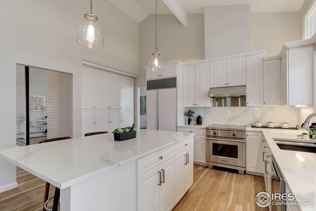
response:
{"label": "left door of the short cabinet above the range hood", "polygon": [[210,63],[210,87],[227,86],[226,59]]}

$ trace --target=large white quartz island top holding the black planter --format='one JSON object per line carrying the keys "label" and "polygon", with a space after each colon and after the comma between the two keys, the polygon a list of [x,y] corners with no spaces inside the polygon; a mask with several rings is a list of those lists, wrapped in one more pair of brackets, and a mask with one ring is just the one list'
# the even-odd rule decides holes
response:
{"label": "large white quartz island top holding the black planter", "polygon": [[2,149],[0,156],[65,189],[194,135],[140,129],[136,139],[114,141],[109,133]]}

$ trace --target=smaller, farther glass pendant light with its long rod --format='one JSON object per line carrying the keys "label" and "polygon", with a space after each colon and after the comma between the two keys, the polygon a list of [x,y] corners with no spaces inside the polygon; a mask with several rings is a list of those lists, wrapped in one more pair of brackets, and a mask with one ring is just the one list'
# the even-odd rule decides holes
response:
{"label": "smaller, farther glass pendant light with its long rod", "polygon": [[162,58],[157,48],[157,0],[156,0],[156,17],[155,17],[155,49],[149,60],[149,68],[151,71],[162,71],[164,68]]}

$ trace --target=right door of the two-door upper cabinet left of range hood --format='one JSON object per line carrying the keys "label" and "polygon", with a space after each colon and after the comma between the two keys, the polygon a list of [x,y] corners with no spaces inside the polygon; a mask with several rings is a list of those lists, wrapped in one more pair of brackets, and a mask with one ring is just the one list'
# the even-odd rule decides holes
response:
{"label": "right door of the two-door upper cabinet left of range hood", "polygon": [[209,63],[196,65],[196,106],[210,106],[209,90]]}

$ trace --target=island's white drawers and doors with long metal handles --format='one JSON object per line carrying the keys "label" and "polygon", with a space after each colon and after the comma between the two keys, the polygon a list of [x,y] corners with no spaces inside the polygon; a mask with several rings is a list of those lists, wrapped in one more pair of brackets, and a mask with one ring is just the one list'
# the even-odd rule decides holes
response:
{"label": "island's white drawers and doors with long metal handles", "polygon": [[193,184],[193,138],[137,160],[137,210],[171,211]]}

